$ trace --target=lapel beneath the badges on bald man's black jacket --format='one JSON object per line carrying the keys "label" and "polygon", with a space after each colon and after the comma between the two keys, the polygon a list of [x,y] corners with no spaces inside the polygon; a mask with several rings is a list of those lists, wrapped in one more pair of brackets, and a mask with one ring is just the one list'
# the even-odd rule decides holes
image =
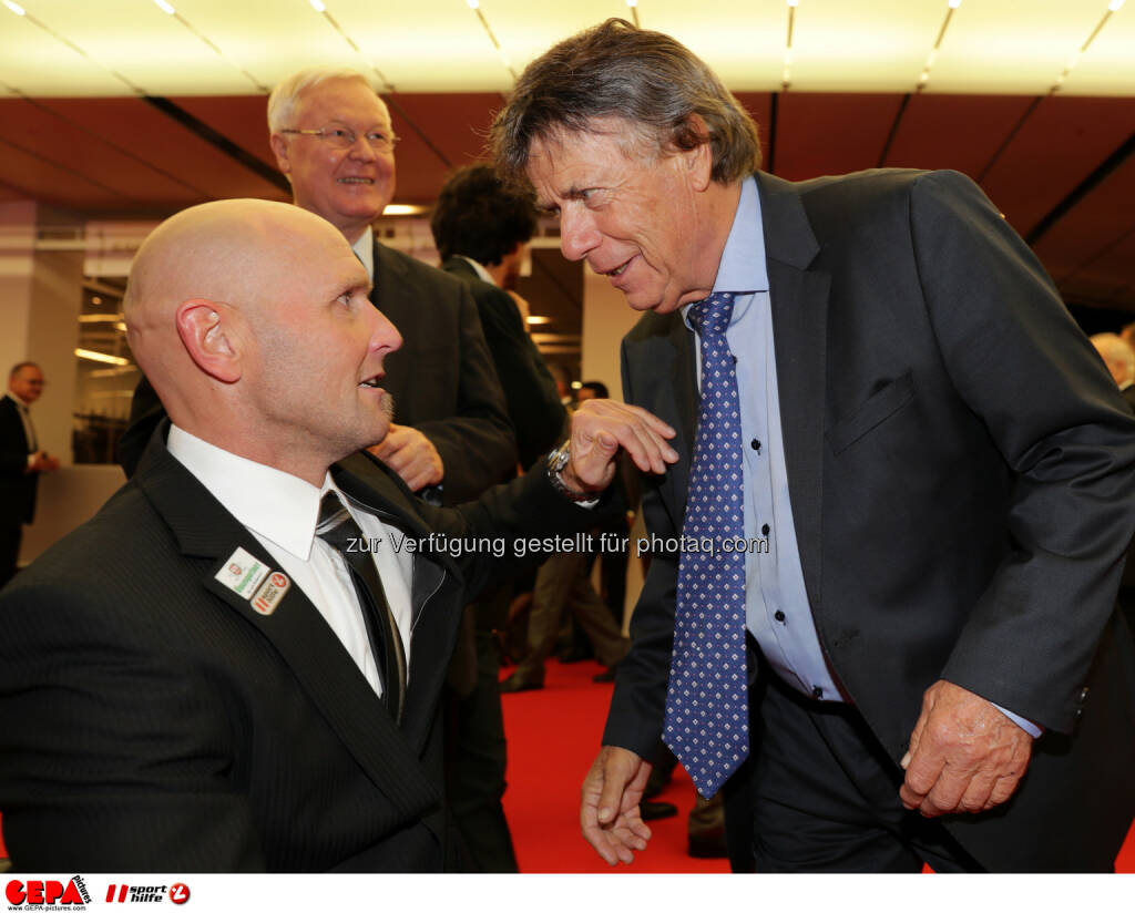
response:
{"label": "lapel beneath the badges on bald man's black jacket", "polygon": [[155,436],[135,482],[169,524],[182,553],[201,568],[201,585],[245,618],[279,652],[312,703],[338,734],[360,767],[395,805],[413,811],[412,798],[434,792],[422,775],[418,752],[359,671],[322,615],[297,586],[291,586],[270,615],[261,615],[243,594],[216,580],[243,549],[267,568],[277,563],[243,525],[165,447]]}

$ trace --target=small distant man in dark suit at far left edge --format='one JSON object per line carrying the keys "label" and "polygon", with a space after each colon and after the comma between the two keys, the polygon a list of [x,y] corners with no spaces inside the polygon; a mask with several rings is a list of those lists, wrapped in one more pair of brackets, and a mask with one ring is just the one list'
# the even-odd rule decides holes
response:
{"label": "small distant man in dark suit at far left edge", "polygon": [[40,366],[20,362],[8,372],[0,397],[0,586],[16,574],[24,524],[35,518],[40,475],[59,468],[59,460],[40,447],[28,411],[43,384]]}

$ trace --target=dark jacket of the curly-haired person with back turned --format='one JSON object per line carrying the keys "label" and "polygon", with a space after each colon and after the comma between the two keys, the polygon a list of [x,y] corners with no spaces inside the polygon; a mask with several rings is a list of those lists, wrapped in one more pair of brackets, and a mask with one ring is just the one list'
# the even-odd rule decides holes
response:
{"label": "dark jacket of the curly-haired person with back turned", "polygon": [[477,303],[485,341],[516,432],[520,464],[531,466],[555,447],[568,419],[556,381],[507,291],[484,281],[461,256],[451,256],[442,270],[461,279]]}

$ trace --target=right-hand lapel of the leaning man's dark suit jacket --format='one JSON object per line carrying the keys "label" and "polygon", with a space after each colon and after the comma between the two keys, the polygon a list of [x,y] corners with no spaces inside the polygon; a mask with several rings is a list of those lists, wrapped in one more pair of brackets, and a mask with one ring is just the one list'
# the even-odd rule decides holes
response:
{"label": "right-hand lapel of the leaning man's dark suit jacket", "polygon": [[796,187],[765,174],[757,175],[757,187],[792,519],[808,599],[813,611],[818,612],[831,277],[808,269],[819,245]]}

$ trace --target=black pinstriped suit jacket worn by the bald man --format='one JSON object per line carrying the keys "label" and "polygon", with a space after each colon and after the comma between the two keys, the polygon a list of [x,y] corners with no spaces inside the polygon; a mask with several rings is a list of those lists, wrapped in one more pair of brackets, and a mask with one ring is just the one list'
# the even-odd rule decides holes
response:
{"label": "black pinstriped suit jacket worn by the bald man", "polygon": [[[163,429],[162,429],[163,431]],[[503,559],[417,553],[400,729],[293,586],[268,616],[215,580],[271,556],[166,450],[0,597],[0,810],[14,864],[93,871],[452,868],[437,705],[461,607]],[[368,455],[337,484],[412,538],[589,524],[546,474],[457,509]]]}

